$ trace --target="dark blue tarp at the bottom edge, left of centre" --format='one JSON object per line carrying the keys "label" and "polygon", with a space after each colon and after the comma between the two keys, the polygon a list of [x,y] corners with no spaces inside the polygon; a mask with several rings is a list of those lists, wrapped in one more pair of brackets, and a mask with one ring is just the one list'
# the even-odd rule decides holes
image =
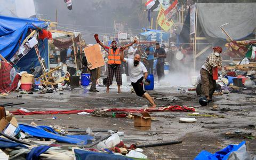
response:
{"label": "dark blue tarp at the bottom edge, left of centre", "polygon": [[81,149],[74,149],[74,153],[76,159],[83,159],[83,160],[132,160],[131,158],[113,155],[113,154],[105,154],[105,153],[97,153],[93,151],[86,151]]}

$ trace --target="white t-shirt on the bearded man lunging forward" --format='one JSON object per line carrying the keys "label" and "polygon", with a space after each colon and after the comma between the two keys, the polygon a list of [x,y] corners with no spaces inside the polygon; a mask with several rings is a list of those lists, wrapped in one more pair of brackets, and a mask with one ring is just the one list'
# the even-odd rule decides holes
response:
{"label": "white t-shirt on the bearded man lunging forward", "polygon": [[138,66],[133,65],[133,59],[125,58],[126,63],[128,63],[129,68],[129,76],[130,80],[133,83],[136,83],[141,77],[143,77],[143,73],[148,72],[143,63],[139,63]]}

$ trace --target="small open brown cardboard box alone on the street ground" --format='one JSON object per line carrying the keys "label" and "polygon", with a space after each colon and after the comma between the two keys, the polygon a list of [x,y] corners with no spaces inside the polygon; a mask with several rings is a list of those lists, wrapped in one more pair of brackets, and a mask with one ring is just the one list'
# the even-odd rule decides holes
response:
{"label": "small open brown cardboard box alone on the street ground", "polygon": [[140,115],[133,114],[134,116],[134,126],[140,126],[140,127],[145,127],[145,126],[151,126],[151,116],[149,113],[140,113]]}

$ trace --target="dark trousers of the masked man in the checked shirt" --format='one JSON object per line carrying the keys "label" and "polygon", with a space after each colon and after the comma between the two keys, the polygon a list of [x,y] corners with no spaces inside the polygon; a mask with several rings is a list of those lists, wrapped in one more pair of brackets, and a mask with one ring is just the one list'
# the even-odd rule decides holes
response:
{"label": "dark trousers of the masked man in the checked shirt", "polygon": [[201,81],[205,97],[212,98],[212,95],[216,89],[216,81],[213,80],[212,75],[205,69],[201,69]]}

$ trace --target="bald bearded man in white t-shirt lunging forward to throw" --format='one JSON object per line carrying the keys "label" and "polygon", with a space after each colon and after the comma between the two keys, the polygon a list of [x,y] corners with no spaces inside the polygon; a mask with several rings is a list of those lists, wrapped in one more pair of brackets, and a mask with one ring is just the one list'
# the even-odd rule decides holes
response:
{"label": "bald bearded man in white t-shirt lunging forward to throw", "polygon": [[156,104],[153,98],[143,90],[142,81],[143,79],[147,79],[148,71],[143,63],[140,62],[140,55],[135,54],[133,59],[129,59],[124,58],[124,53],[121,52],[121,61],[128,63],[128,73],[135,93],[140,97],[146,98],[151,103],[151,108],[155,108]]}

